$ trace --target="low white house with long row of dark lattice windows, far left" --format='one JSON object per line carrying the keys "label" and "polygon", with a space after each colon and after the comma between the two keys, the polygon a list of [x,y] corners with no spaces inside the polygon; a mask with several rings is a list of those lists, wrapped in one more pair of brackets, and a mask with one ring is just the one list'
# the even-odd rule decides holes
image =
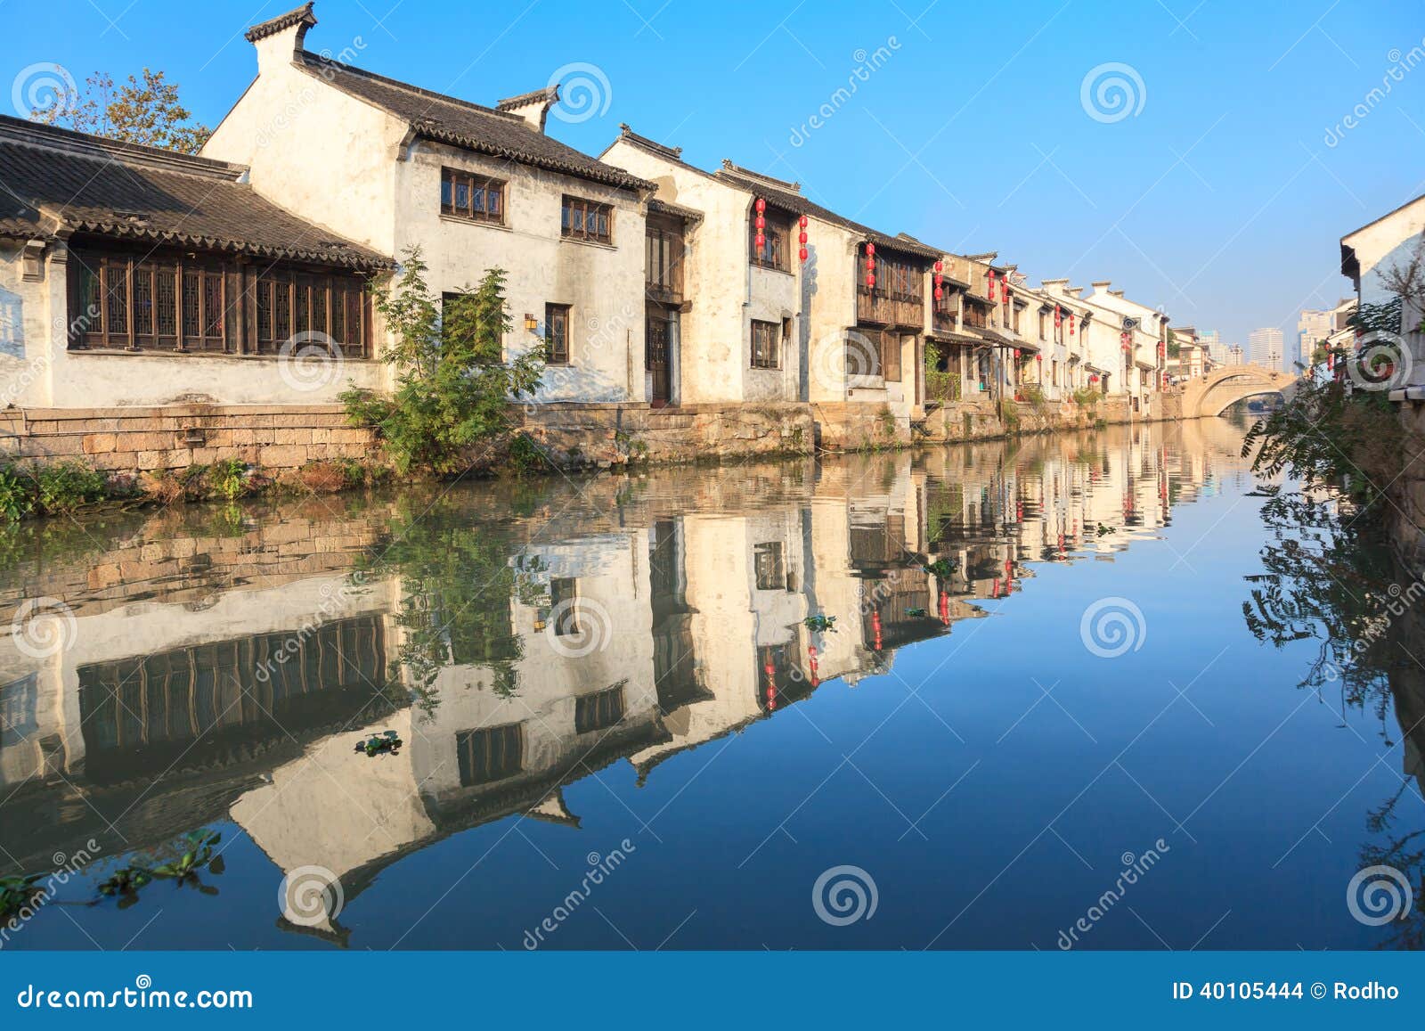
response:
{"label": "low white house with long row of dark lattice windows, far left", "polygon": [[389,262],[245,170],[0,116],[0,395],[24,409],[333,401],[281,375],[294,334],[362,385]]}

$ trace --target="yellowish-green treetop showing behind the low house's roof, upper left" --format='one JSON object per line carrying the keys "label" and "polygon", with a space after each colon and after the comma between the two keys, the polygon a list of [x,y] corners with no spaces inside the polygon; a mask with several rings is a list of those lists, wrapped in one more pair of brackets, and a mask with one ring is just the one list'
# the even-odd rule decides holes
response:
{"label": "yellowish-green treetop showing behind the low house's roof, upper left", "polygon": [[144,68],[141,81],[130,76],[118,87],[107,71],[95,71],[84,80],[83,93],[58,96],[31,117],[47,125],[182,154],[197,154],[212,134],[178,100],[178,86],[151,68]]}

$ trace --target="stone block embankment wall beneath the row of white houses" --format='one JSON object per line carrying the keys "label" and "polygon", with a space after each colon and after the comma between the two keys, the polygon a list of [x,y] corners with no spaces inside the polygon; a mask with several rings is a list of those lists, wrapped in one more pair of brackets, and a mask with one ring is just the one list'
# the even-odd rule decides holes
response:
{"label": "stone block embankment wall beneath the row of white houses", "polygon": [[[960,401],[925,419],[849,402],[683,405],[542,404],[512,422],[570,466],[687,462],[750,455],[868,451],[912,443],[989,441],[1072,432],[1099,422],[1180,418],[1177,395],[1156,395],[1146,415],[1121,398],[1094,406],[1019,402],[1006,419],[989,401]],[[494,449],[500,455],[502,449]],[[238,459],[281,473],[312,462],[379,462],[375,435],[346,424],[339,405],[165,405],[162,408],[16,408],[0,412],[0,458],[78,459],[115,473],[181,471]]]}

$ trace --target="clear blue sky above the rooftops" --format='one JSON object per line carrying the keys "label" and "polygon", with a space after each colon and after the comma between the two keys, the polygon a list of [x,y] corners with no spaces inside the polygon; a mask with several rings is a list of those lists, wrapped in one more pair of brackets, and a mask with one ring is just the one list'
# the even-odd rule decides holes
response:
{"label": "clear blue sky above the rooftops", "polygon": [[[242,30],[289,6],[0,0],[3,71],[54,61],[78,80],[120,78],[147,64],[214,124],[255,71]],[[1301,307],[1348,291],[1340,237],[1425,191],[1419,11],[1404,0],[321,0],[308,48],[359,41],[365,68],[487,104],[594,66],[597,111],[550,121],[581,150],[597,154],[627,121],[695,164],[728,157],[799,180],[876,228],[998,251],[1035,284],[1112,279],[1176,325],[1245,344],[1260,325],[1295,339]],[[1086,103],[1100,66],[1127,68],[1089,78]],[[1104,78],[1127,84],[1127,108],[1112,86],[1096,101]],[[818,108],[829,117],[809,128]],[[1344,128],[1352,108],[1365,114]]]}

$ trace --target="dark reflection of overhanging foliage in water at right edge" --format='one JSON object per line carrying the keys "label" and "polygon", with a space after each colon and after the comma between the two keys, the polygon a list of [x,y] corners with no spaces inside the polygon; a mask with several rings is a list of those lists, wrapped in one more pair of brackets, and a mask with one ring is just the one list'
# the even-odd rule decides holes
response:
{"label": "dark reflection of overhanging foliage in water at right edge", "polygon": [[[1320,650],[1301,686],[1320,692],[1340,682],[1342,710],[1372,712],[1381,722],[1382,740],[1392,747],[1396,742],[1388,720],[1394,704],[1405,736],[1415,737],[1421,733],[1421,717],[1414,714],[1421,699],[1415,694],[1425,682],[1416,667],[1402,662],[1408,655],[1402,646],[1419,639],[1418,609],[1425,600],[1419,582],[1396,578],[1398,568],[1377,519],[1361,518],[1325,493],[1268,488],[1267,495],[1263,515],[1274,542],[1261,550],[1267,572],[1247,578],[1254,585],[1251,600],[1243,603],[1247,627],[1258,640],[1278,647],[1318,640]],[[1405,590],[1401,579],[1409,583]],[[1411,742],[1401,747],[1409,749]],[[1425,827],[1401,826],[1396,811],[1412,790],[1411,777],[1404,777],[1399,790],[1367,814],[1368,834],[1384,840],[1361,846],[1362,870],[1389,866],[1415,886],[1416,904],[1392,924],[1392,937],[1382,943],[1399,948],[1425,945]]]}

